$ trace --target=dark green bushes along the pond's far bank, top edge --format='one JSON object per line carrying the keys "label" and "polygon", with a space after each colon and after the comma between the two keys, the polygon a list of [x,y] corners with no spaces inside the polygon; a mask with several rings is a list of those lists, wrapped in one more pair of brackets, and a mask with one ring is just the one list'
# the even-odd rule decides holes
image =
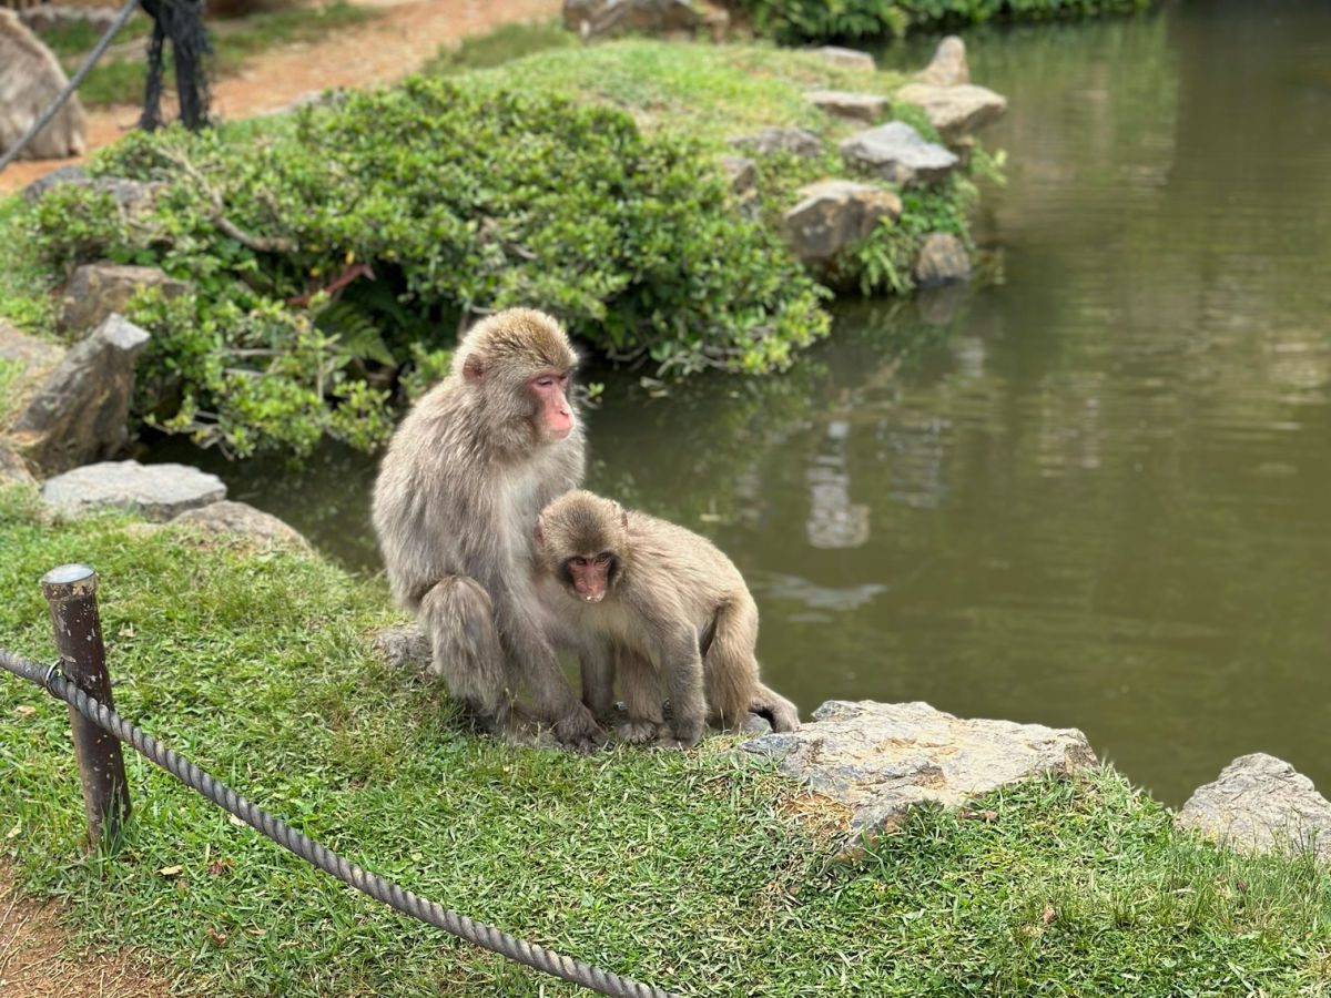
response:
{"label": "dark green bushes along the pond's far bank, top edge", "polygon": [[759,33],[795,43],[901,36],[906,28],[1131,13],[1154,0],[735,0]]}

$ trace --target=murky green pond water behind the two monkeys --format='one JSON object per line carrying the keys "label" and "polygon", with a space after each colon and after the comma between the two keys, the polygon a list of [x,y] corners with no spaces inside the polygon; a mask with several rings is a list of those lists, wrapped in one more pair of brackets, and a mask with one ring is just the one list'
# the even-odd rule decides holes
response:
{"label": "murky green pond water behind the two monkeys", "polygon": [[[1078,727],[1174,805],[1255,750],[1331,790],[1331,5],[968,43],[996,283],[844,305],[783,378],[610,377],[588,484],[717,540],[805,712]],[[216,470],[377,566],[373,460]]]}

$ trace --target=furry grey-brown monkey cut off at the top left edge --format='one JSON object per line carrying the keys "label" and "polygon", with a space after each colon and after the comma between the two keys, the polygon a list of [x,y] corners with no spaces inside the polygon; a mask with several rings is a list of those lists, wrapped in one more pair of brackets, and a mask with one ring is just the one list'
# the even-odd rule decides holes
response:
{"label": "furry grey-brown monkey cut off at the top left edge", "polygon": [[[0,153],[13,149],[69,84],[60,63],[13,11],[0,9]],[[88,120],[73,94],[20,160],[63,160],[87,148]]]}

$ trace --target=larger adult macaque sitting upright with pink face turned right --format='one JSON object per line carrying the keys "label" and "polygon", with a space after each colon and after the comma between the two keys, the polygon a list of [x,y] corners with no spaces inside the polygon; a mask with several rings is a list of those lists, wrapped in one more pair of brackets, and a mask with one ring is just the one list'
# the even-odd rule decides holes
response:
{"label": "larger adult macaque sitting upright with pink face turned right", "polygon": [[453,373],[398,427],[374,487],[374,528],[394,596],[430,639],[430,671],[475,721],[520,733],[531,693],[566,745],[606,740],[544,633],[531,528],[583,475],[568,399],[578,357],[559,325],[510,309],[458,345]]}

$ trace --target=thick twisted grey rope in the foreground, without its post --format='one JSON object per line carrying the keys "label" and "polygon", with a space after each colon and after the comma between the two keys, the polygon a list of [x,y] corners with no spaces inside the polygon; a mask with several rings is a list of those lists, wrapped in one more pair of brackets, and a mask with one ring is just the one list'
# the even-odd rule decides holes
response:
{"label": "thick twisted grey rope in the foreground, without its post", "polygon": [[519,939],[491,925],[467,918],[463,914],[427,901],[391,881],[362,870],[326,849],[313,838],[297,832],[286,822],[274,818],[262,808],[240,796],[226,784],[216,780],[188,758],[161,745],[152,735],[126,721],[105,704],[84,693],[79,687],[60,675],[59,669],[36,661],[21,659],[7,648],[0,648],[0,667],[39,687],[44,687],[57,700],[64,700],[79,713],[102,731],[132,745],[141,756],[152,760],[186,786],[198,790],[218,806],[229,810],[250,828],[272,838],[284,849],[295,853],[302,860],[314,864],[343,884],[350,884],[375,901],[382,901],[397,910],[419,918],[422,922],[443,929],[461,939],[474,942],[508,959],[524,963],[552,977],[571,981],[592,991],[612,995],[612,998],[676,998],[669,991],[639,983],[608,970],[583,963],[580,959],[547,950],[534,942]]}

